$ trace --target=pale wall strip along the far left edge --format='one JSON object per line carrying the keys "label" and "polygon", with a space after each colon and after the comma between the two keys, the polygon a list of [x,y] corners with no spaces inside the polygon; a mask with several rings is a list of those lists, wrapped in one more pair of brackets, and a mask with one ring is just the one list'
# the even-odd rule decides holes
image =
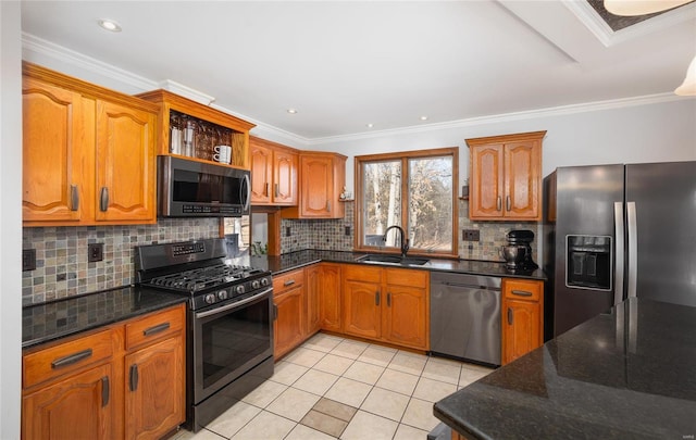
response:
{"label": "pale wall strip along the far left edge", "polygon": [[20,438],[22,70],[18,1],[0,1],[0,439]]}

